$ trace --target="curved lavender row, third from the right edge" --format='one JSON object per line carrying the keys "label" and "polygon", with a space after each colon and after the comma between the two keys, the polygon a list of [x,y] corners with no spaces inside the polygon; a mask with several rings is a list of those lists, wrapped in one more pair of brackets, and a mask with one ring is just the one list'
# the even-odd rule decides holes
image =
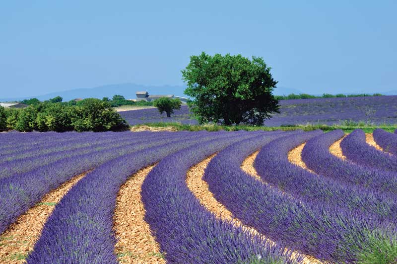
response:
{"label": "curved lavender row, third from the right edge", "polygon": [[302,160],[315,173],[330,177],[335,181],[373,190],[379,193],[397,194],[397,175],[376,168],[342,160],[330,153],[330,146],[344,135],[342,130],[333,130],[314,137],[302,150]]}

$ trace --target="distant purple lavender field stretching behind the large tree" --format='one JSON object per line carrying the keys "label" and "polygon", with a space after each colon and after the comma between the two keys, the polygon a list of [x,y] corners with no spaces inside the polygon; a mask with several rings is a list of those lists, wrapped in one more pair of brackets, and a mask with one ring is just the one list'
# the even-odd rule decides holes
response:
{"label": "distant purple lavender field stretching behind the large tree", "polygon": [[[397,95],[281,100],[281,113],[265,121],[265,126],[298,124],[339,124],[343,120],[373,124],[397,124]],[[171,118],[156,108],[120,112],[130,125],[157,122],[198,124],[187,106]]]}

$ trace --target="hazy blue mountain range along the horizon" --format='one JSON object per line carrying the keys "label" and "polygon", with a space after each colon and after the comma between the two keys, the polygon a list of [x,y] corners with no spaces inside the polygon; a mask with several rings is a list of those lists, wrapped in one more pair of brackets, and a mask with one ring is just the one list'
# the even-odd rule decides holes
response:
{"label": "hazy blue mountain range along the horizon", "polygon": [[[75,98],[88,98],[88,97],[102,99],[103,97],[111,98],[115,94],[121,94],[124,97],[126,97],[126,99],[134,99],[136,98],[135,92],[137,91],[148,91],[149,94],[174,94],[178,96],[186,96],[183,93],[185,88],[186,88],[185,86],[144,86],[144,85],[126,83],[126,84],[98,86],[94,88],[71,89],[66,91],[51,92],[37,96],[0,98],[0,102],[19,101],[33,97],[36,97],[39,100],[47,100],[56,96],[61,96],[64,99],[64,101],[69,101]],[[277,87],[274,89],[273,93],[275,95],[287,95],[290,93],[299,94],[303,92],[294,88]],[[397,90],[381,92],[381,93],[385,95],[397,95]]]}

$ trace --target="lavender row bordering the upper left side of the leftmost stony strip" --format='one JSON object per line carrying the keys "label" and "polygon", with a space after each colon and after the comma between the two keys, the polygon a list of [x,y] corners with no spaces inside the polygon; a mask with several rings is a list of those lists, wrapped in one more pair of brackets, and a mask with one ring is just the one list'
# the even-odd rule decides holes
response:
{"label": "lavender row bordering the upper left side of the leftmost stony strip", "polygon": [[[201,133],[203,135],[207,133]],[[151,137],[150,132],[137,133],[136,140]],[[177,134],[163,132],[156,134],[157,138],[149,142],[135,143],[123,147],[109,146],[107,150],[100,150],[89,154],[78,155],[36,168],[30,172],[16,174],[0,179],[0,233],[7,226],[15,222],[16,218],[35,205],[52,189],[57,188],[73,176],[95,169],[102,163],[128,153],[154,147],[168,142],[178,142],[181,137],[189,140],[197,136],[191,132]]]}

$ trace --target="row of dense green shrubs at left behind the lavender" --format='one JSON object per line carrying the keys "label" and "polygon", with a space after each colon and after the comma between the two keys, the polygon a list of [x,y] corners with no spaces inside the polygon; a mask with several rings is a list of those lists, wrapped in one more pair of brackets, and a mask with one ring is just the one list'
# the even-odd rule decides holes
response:
{"label": "row of dense green shrubs at left behind the lavender", "polygon": [[[62,99],[61,99],[62,100]],[[0,130],[17,131],[120,131],[127,122],[109,102],[87,98],[73,105],[68,102],[45,101],[26,108],[0,107]]]}

